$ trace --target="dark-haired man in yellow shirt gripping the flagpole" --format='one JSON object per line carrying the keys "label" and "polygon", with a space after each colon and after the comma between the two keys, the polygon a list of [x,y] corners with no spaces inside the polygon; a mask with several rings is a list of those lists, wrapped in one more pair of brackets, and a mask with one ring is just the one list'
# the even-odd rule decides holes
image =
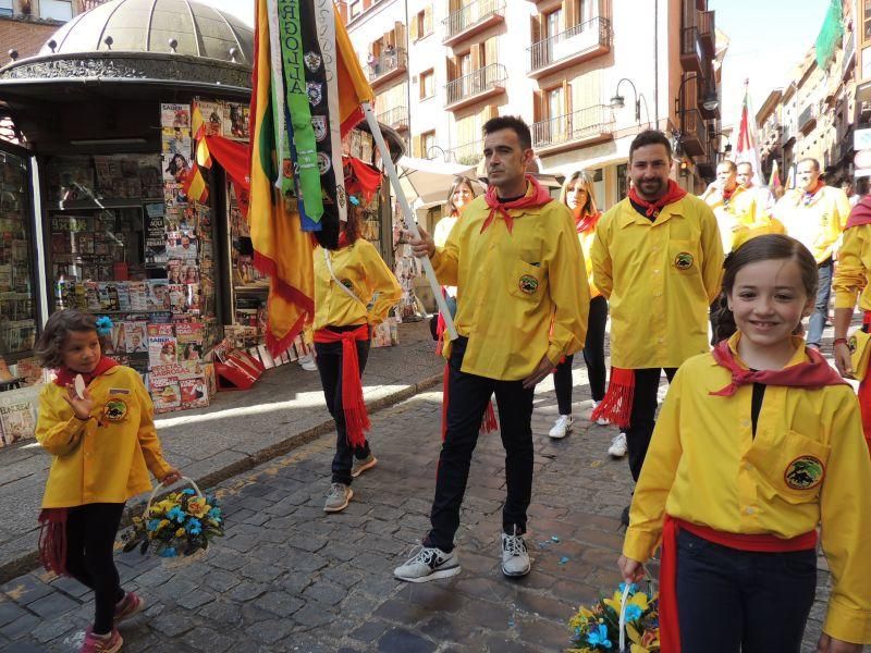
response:
{"label": "dark-haired man in yellow shirt gripping the flagpole", "polygon": [[532,496],[532,393],[563,356],[584,346],[590,291],[575,222],[565,205],[525,175],[529,127],[503,115],[483,125],[487,194],[463,210],[444,247],[422,229],[415,256],[429,256],[442,285],[457,288],[455,341],[445,343],[446,431],[436,477],[432,528],[393,575],[408,582],[459,572],[454,535],[481,418],[495,393],[505,447],[502,572],[529,572],[523,534]]}

